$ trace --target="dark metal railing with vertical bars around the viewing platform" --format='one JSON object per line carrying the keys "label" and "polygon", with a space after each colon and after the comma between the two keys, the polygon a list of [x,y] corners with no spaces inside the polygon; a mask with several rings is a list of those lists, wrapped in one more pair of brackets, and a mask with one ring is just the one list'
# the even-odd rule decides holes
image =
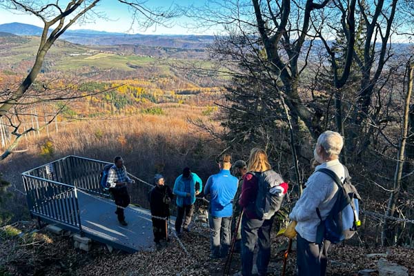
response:
{"label": "dark metal railing with vertical bars around the viewing platform", "polygon": [[[23,172],[21,175],[30,213],[81,232],[77,190],[111,197],[99,183],[100,174],[107,164],[111,163],[70,155]],[[128,185],[132,204],[149,208],[148,193],[151,188],[145,181]]]}

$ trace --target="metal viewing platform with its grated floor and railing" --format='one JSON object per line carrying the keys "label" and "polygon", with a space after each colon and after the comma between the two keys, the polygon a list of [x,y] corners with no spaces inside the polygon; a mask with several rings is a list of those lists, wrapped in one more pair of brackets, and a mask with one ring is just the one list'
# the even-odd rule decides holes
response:
{"label": "metal viewing platform with its grated floor and railing", "polygon": [[152,186],[145,181],[128,186],[135,206],[126,208],[128,226],[121,226],[114,201],[99,184],[106,164],[110,163],[70,155],[23,172],[30,215],[129,253],[153,250],[152,221],[147,209]]}

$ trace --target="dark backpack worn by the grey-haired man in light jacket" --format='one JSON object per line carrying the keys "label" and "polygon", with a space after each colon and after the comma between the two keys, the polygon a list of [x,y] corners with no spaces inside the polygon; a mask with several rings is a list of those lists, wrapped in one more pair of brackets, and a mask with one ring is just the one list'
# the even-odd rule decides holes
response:
{"label": "dark backpack worn by the grey-haired man in light jacket", "polygon": [[321,220],[317,227],[316,244],[322,244],[324,239],[333,244],[342,242],[344,239],[351,239],[357,232],[357,226],[361,225],[358,203],[361,197],[359,197],[355,186],[351,184],[348,169],[345,166],[344,169],[345,179],[343,184],[332,170],[327,168],[317,170],[329,175],[337,184],[338,190],[335,194],[335,204],[325,220],[322,220],[319,208],[316,208],[316,213]]}

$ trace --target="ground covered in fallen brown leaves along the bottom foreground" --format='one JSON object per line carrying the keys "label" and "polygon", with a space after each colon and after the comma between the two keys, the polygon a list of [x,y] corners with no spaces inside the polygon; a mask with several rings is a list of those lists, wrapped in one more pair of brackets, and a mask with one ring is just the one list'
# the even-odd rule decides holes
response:
{"label": "ground covered in fallen brown leaves along the bottom foreground", "polygon": [[[26,222],[0,231],[0,275],[223,275],[226,262],[226,259],[208,257],[208,231],[200,226],[181,239],[189,256],[175,239],[159,251],[132,255],[118,250],[109,253],[102,244],[93,244],[92,250],[85,253],[73,247],[70,236],[58,237],[43,230],[30,234],[34,226],[33,222]],[[23,233],[19,234],[19,230]],[[269,275],[280,275],[286,246],[285,238],[273,238]],[[386,255],[367,257],[371,253]],[[388,261],[406,266],[409,275],[414,275],[414,250],[409,248],[340,244],[332,246],[329,255],[328,275],[357,275],[359,270],[375,269],[377,260],[384,256]],[[239,268],[239,254],[235,254],[232,274]],[[295,275],[295,250],[288,256],[286,275]]]}

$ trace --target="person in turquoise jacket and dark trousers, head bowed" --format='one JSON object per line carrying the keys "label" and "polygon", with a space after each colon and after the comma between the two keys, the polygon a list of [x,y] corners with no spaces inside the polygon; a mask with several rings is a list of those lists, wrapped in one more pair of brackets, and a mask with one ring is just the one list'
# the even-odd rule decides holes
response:
{"label": "person in turquoise jacket and dark trousers, head bowed", "polygon": [[[172,193],[177,196],[177,219],[175,219],[175,232],[181,235],[183,230],[188,232],[188,225],[191,222],[194,212],[195,196],[203,190],[203,181],[190,168],[184,168],[183,174],[175,179]],[[184,213],[186,219],[184,219]],[[184,224],[183,224],[184,219]]]}

